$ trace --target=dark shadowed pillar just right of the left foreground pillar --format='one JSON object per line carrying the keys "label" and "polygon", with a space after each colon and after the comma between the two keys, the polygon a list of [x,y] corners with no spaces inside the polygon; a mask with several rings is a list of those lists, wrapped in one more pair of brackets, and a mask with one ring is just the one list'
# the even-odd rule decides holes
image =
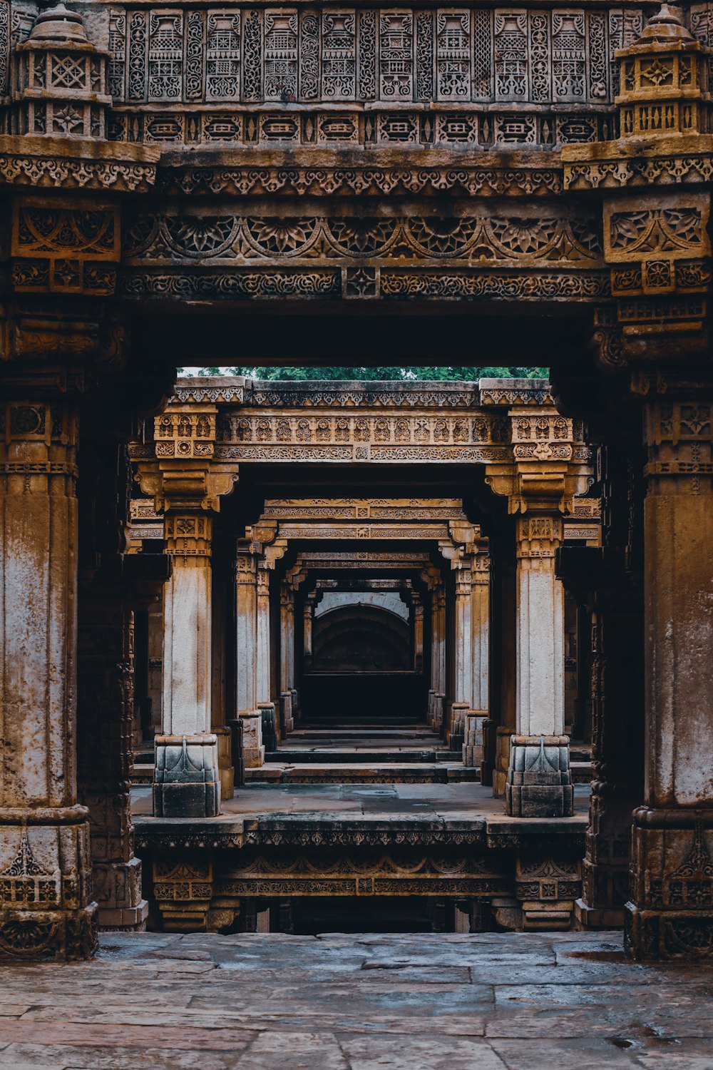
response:
{"label": "dark shadowed pillar just right of the left foreground pillar", "polygon": [[[128,494],[121,444],[95,437],[88,441],[79,491],[78,795],[89,809],[99,926],[140,930],[149,904],[141,896],[141,862],[134,855],[129,771],[136,587],[126,574],[130,564],[151,565],[152,556],[164,564],[165,559],[136,555],[129,561],[119,552]],[[149,576],[143,579],[146,585]]]}

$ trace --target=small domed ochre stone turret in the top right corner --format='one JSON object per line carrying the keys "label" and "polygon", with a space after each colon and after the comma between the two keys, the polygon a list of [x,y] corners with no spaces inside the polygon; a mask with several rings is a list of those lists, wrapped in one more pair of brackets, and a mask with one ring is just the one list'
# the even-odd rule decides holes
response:
{"label": "small domed ochre stone turret in the top right corner", "polygon": [[638,41],[617,54],[621,136],[707,134],[711,50],[683,21],[683,11],[662,3]]}

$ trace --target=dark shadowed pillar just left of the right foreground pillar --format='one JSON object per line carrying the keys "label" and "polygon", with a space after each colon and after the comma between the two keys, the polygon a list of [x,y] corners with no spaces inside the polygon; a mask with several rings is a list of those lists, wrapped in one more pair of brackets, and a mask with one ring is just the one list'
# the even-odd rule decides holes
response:
{"label": "dark shadowed pillar just left of the right foreground pillar", "polygon": [[[624,427],[638,411],[621,414]],[[621,430],[600,449],[601,549],[565,547],[558,571],[591,615],[593,781],[575,904],[580,926],[623,926],[629,899],[632,813],[644,798],[642,464],[640,444]]]}

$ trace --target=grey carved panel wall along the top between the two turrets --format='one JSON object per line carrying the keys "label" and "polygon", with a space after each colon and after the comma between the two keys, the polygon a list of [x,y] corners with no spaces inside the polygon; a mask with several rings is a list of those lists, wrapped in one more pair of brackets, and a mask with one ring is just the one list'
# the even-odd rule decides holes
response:
{"label": "grey carved panel wall along the top between the two turrets", "polygon": [[615,51],[642,27],[636,7],[115,7],[111,136],[292,146],[602,140]]}

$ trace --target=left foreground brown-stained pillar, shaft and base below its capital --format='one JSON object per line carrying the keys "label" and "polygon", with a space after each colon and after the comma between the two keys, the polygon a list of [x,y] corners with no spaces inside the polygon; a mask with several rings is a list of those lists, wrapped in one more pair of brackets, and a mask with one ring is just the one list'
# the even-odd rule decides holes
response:
{"label": "left foreground brown-stained pillar, shaft and base below its capital", "polygon": [[96,945],[87,809],[75,773],[77,413],[0,406],[0,954]]}

